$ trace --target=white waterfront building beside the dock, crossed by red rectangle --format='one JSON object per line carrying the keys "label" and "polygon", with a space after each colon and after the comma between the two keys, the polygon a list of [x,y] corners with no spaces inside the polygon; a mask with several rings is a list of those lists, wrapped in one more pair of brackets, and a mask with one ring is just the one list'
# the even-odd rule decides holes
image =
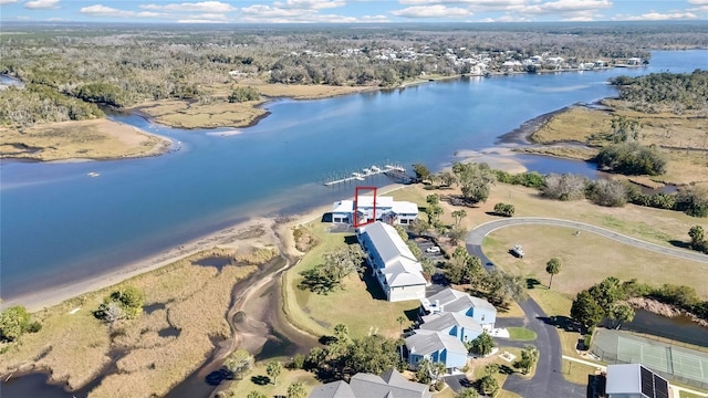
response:
{"label": "white waterfront building beside the dock, crossed by red rectangle", "polygon": [[[360,196],[356,203],[358,223],[368,220],[381,220],[387,223],[407,226],[418,218],[418,205],[408,201],[396,201],[393,197],[376,197],[376,214],[374,214],[374,197]],[[354,223],[354,201],[340,200],[332,205],[332,222]]]}

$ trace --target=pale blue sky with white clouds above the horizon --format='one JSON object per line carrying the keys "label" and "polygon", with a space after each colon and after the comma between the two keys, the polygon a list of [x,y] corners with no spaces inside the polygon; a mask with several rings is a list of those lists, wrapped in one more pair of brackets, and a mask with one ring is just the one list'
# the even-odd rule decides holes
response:
{"label": "pale blue sky with white clouds above the horizon", "polygon": [[694,20],[708,23],[708,0],[183,1],[0,0],[0,21],[440,23]]}

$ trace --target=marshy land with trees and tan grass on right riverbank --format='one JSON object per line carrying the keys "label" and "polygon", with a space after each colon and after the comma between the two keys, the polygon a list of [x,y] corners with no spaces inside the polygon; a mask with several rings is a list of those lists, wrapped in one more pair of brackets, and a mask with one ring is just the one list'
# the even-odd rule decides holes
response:
{"label": "marshy land with trees and tan grass on right riverbank", "polygon": [[597,161],[649,188],[707,184],[708,71],[611,83],[618,97],[539,116],[504,139],[531,144],[519,151]]}

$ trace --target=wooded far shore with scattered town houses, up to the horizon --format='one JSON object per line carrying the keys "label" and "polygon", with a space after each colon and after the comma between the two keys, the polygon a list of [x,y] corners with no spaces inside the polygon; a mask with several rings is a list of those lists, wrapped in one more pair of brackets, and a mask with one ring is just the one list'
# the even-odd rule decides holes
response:
{"label": "wooded far shore with scattered town houses, up to the horizon", "polygon": [[[3,23],[0,74],[24,87],[0,91],[0,126],[85,119],[96,105],[160,100],[229,102],[242,78],[266,83],[395,86],[421,76],[577,69],[647,60],[656,49],[708,48],[697,22],[140,25]],[[558,61],[558,60],[562,60]],[[226,93],[226,94],[225,94]],[[231,98],[230,101],[233,101]]]}

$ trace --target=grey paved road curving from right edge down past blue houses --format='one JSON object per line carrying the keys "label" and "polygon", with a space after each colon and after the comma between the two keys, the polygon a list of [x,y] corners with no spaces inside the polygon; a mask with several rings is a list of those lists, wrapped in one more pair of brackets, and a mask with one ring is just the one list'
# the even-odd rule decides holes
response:
{"label": "grey paved road curving from right edge down past blue houses", "polygon": [[[698,252],[662,247],[583,222],[537,217],[508,218],[483,223],[467,235],[467,251],[480,258],[482,264],[485,264],[485,268],[489,271],[493,264],[482,252],[481,244],[485,237],[504,227],[534,224],[568,227],[575,230],[593,232],[641,249],[708,263],[708,255]],[[534,344],[540,352],[539,363],[537,364],[535,375],[532,379],[527,380],[512,375],[504,383],[503,389],[519,394],[524,398],[585,397],[587,394],[586,386],[575,385],[563,378],[561,339],[555,332],[555,327],[543,322],[543,320],[548,318],[548,315],[541,310],[539,304],[531,298],[520,302],[519,305],[525,315],[525,326],[533,329],[538,335]]]}

